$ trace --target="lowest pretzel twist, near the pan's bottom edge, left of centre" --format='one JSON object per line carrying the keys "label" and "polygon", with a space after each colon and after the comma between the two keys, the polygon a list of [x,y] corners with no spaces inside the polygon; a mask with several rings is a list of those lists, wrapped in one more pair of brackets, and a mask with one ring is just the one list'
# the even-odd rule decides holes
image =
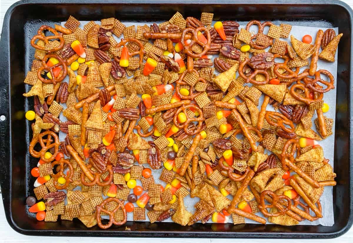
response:
{"label": "lowest pretzel twist, near the pan's bottom edge, left of centre", "polygon": [[[110,202],[116,202],[118,205],[116,206],[116,208],[114,208],[113,211],[108,211],[107,209],[104,208],[104,206],[107,204],[107,203],[110,203]],[[122,221],[115,221],[114,219],[114,214],[116,211],[118,211],[119,209],[121,208],[122,210],[122,213],[124,214],[124,219]],[[123,201],[120,201],[118,198],[116,197],[108,197],[106,200],[104,200],[103,202],[101,202],[100,205],[97,205],[96,206],[96,211],[97,211],[97,225],[103,229],[103,230],[106,230],[108,229],[110,226],[112,226],[113,224],[114,225],[123,225],[126,223],[126,220],[127,220],[127,214],[126,214],[126,210],[125,210],[125,207],[124,207],[124,202]],[[108,224],[102,224],[102,219],[101,219],[101,212],[103,213],[106,213],[109,215],[109,223]]]}

